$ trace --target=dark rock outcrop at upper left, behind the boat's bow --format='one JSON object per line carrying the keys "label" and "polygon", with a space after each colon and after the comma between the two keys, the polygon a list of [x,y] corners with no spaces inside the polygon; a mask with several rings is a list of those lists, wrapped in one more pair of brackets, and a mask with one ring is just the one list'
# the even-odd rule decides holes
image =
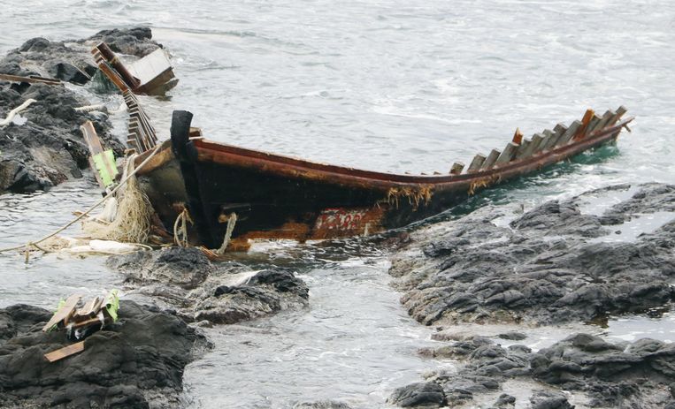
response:
{"label": "dark rock outcrop at upper left, behind the boat's bow", "polygon": [[[80,86],[96,73],[90,50],[97,42],[109,42],[113,50],[142,57],[159,47],[151,36],[150,28],[131,28],[65,42],[37,37],[0,59],[0,73],[40,75]],[[111,134],[106,112],[75,110],[92,104],[82,94],[72,86],[0,80],[0,120],[23,102],[35,100],[9,125],[0,127],[0,193],[45,190],[81,178],[81,170],[89,166],[80,131],[87,120],[94,123],[104,148],[122,155],[124,146]]]}

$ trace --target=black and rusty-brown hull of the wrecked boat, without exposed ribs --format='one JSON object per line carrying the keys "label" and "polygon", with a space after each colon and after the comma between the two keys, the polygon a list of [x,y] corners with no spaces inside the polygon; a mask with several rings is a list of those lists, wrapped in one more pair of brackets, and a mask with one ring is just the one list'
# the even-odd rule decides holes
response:
{"label": "black and rusty-brown hull of the wrecked boat, without exposed ribs", "polygon": [[233,238],[240,241],[333,239],[401,227],[452,208],[479,188],[615,140],[630,122],[489,170],[410,176],[190,140],[191,114],[176,111],[173,119],[172,140],[139,172],[142,186],[167,229],[188,208],[195,222],[191,241],[211,248],[222,243],[232,213],[237,216]]}

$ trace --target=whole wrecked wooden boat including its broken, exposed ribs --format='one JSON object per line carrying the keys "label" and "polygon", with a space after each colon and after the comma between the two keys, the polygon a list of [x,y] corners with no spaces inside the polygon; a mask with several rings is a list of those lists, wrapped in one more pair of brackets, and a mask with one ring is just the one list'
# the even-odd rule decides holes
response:
{"label": "whole wrecked wooden boat including its broken, exposed ribs", "polygon": [[175,232],[182,217],[181,223],[194,223],[183,239],[210,248],[224,238],[229,248],[242,249],[249,239],[335,239],[401,227],[451,208],[480,188],[616,140],[633,120],[623,119],[623,106],[602,117],[587,110],[580,121],[529,140],[517,131],[502,151],[476,155],[466,170],[454,163],[448,175],[433,176],[357,170],[221,144],[204,139],[190,126],[192,114],[181,110],[173,112],[171,139],[157,145],[125,70],[114,55],[102,57],[101,49],[94,51],[97,64],[130,110],[127,142],[140,154],[134,163],[142,165],[137,176],[143,192],[166,231]]}

